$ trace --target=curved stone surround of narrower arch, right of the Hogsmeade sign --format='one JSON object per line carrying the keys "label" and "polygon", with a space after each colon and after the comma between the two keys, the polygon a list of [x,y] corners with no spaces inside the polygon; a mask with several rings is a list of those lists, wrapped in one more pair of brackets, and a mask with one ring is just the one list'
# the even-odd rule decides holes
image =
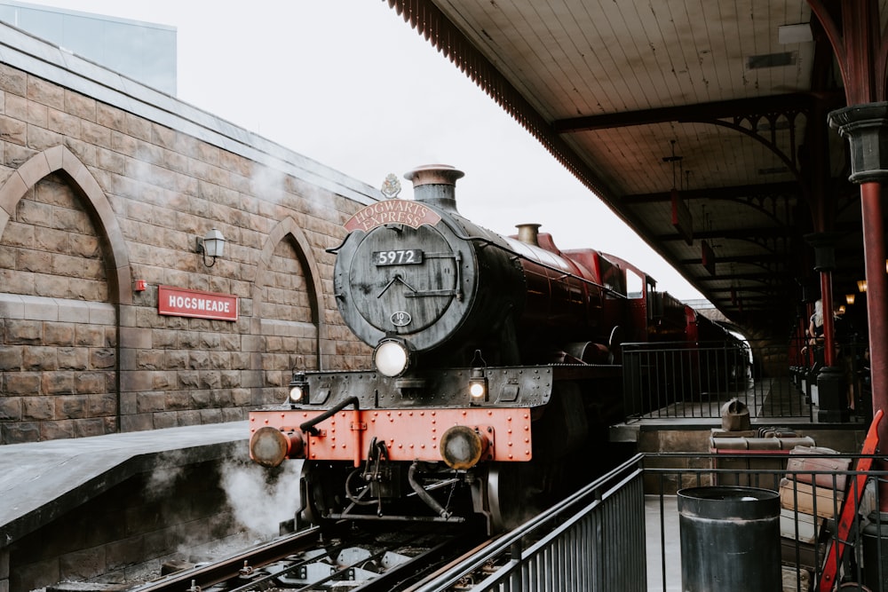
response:
{"label": "curved stone surround of narrower arch, right of the Hogsmeade sign", "polygon": [[[263,323],[268,320],[266,319],[268,315],[263,311],[264,306],[266,306],[263,288],[266,288],[269,281],[275,249],[277,249],[281,241],[287,241],[288,239],[296,251],[298,263],[304,272],[305,292],[310,307],[311,323],[316,329],[313,353],[317,358],[317,367],[322,369],[324,367],[324,359],[329,357],[329,351],[327,351],[329,339],[327,324],[324,320],[325,305],[321,288],[321,269],[313,255],[313,249],[308,241],[308,237],[305,236],[305,233],[293,217],[286,217],[274,226],[271,233],[268,234],[259,256],[256,281],[253,285],[254,324],[251,328],[251,333],[253,335],[263,335],[265,333]],[[266,350],[264,353],[267,354],[268,351]],[[281,380],[289,379],[289,371],[291,369],[289,367],[278,368],[277,371],[285,375],[281,375]]]}

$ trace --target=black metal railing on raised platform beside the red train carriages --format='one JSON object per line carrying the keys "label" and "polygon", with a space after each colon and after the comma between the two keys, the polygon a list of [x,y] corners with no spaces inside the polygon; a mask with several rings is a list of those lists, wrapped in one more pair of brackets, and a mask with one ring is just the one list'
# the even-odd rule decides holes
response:
{"label": "black metal railing on raised platform beside the red train carriages", "polygon": [[810,420],[810,395],[790,372],[788,352],[744,343],[623,343],[627,421],[714,419],[734,398],[752,417]]}

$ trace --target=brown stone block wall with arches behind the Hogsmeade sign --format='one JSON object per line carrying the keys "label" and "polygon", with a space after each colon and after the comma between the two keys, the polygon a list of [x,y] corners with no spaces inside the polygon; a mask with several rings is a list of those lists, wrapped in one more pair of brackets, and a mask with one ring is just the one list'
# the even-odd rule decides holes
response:
{"label": "brown stone block wall with arches behind the Hogsmeade sign", "polygon": [[[325,252],[363,204],[113,103],[0,64],[0,444],[242,420],[294,368],[369,365]],[[159,286],[239,318],[159,314]]]}

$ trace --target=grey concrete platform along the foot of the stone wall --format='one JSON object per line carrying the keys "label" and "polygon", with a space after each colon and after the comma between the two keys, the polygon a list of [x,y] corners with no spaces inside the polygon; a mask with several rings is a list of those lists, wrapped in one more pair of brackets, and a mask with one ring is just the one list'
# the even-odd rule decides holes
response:
{"label": "grey concrete platform along the foot of the stone wall", "polygon": [[139,472],[247,457],[247,422],[0,446],[0,549]]}

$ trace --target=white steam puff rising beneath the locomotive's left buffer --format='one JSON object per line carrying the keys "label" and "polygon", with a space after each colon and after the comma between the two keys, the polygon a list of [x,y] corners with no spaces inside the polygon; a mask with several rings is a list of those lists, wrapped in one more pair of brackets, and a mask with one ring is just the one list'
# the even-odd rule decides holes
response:
{"label": "white steam puff rising beneath the locomotive's left buffer", "polygon": [[276,470],[255,462],[226,462],[221,482],[234,518],[258,537],[277,536],[281,522],[293,519],[299,507],[301,469],[297,461]]}

